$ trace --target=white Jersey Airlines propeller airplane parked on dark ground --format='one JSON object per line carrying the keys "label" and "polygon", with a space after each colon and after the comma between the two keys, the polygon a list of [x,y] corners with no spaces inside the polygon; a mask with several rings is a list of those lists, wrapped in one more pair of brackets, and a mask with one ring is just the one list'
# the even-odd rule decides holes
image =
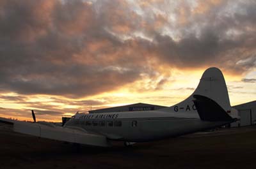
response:
{"label": "white Jersey Airlines propeller airplane parked on dark ground", "polygon": [[193,94],[172,107],[140,112],[75,114],[63,126],[50,123],[7,121],[13,131],[83,145],[110,147],[111,141],[131,146],[207,129],[239,120],[230,106],[227,85],[218,68],[208,68]]}

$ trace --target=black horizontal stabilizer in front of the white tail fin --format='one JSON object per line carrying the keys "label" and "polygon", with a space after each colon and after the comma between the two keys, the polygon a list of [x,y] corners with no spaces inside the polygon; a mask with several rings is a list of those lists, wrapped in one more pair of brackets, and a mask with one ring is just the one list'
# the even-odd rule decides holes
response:
{"label": "black horizontal stabilizer in front of the white tail fin", "polygon": [[195,98],[196,110],[202,121],[234,121],[225,110],[215,101],[198,94],[193,95]]}

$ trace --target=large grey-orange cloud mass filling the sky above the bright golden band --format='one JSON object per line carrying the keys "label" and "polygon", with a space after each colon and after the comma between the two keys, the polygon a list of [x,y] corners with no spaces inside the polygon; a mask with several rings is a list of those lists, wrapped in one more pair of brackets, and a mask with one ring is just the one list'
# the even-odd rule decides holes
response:
{"label": "large grey-orange cloud mass filling the sky above the bright golden band", "polygon": [[255,68],[248,62],[256,54],[252,1],[198,1],[207,7],[202,13],[186,3],[186,12],[164,13],[167,4],[150,2],[138,12],[118,0],[1,1],[0,91],[80,98],[136,82],[141,73],[156,80],[159,65],[240,74]]}

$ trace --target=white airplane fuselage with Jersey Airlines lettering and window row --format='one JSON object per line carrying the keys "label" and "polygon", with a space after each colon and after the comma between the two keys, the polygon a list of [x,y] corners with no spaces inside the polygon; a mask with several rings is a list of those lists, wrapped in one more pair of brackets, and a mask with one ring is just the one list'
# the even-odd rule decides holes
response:
{"label": "white airplane fuselage with Jersey Airlines lettering and window row", "polygon": [[198,114],[166,112],[116,112],[78,114],[66,126],[77,126],[111,140],[145,142],[194,133],[227,124],[227,121],[202,121]]}

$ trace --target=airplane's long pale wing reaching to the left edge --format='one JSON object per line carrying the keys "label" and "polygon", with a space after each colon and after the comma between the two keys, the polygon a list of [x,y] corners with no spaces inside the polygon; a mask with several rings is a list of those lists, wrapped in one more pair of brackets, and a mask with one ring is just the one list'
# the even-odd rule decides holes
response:
{"label": "airplane's long pale wing reaching to the left edge", "polygon": [[82,128],[50,126],[38,122],[22,122],[0,118],[0,122],[13,124],[13,131],[27,135],[49,138],[70,143],[81,143],[99,147],[111,146],[106,136],[88,133]]}

